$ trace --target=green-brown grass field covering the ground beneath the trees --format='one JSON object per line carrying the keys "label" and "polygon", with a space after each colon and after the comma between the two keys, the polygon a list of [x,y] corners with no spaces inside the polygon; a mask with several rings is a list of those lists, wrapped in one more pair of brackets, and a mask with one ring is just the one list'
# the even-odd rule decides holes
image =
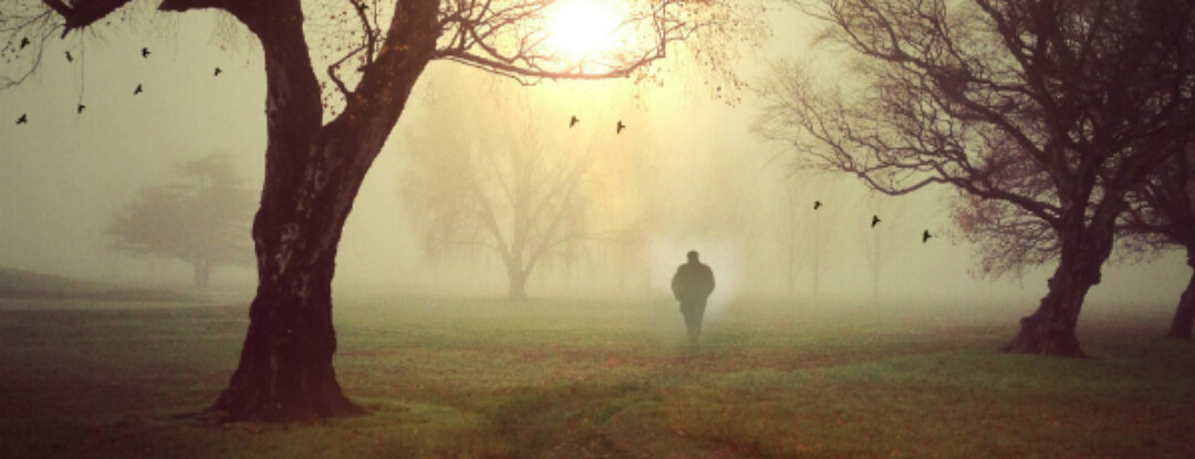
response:
{"label": "green-brown grass field covering the ground beneath the trees", "polygon": [[213,424],[238,305],[0,300],[0,458],[1189,458],[1195,344],[1084,319],[1096,356],[994,351],[1029,311],[342,299],[358,418]]}

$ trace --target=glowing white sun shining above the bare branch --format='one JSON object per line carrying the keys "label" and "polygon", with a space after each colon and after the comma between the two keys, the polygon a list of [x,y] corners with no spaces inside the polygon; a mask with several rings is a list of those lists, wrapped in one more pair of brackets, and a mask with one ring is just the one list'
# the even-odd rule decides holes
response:
{"label": "glowing white sun shining above the bare branch", "polygon": [[613,49],[619,17],[601,0],[559,0],[550,16],[549,44],[572,59]]}

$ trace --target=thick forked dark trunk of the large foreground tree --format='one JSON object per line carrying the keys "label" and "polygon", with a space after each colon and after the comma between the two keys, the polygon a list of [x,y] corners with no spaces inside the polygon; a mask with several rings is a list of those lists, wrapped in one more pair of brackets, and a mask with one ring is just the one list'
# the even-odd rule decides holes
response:
{"label": "thick forked dark trunk of the large foreground tree", "polygon": [[240,362],[212,409],[258,421],[362,414],[332,368],[336,249],[366,172],[435,49],[439,5],[402,5],[407,10],[396,12],[384,50],[326,124],[299,2],[237,5],[265,55],[269,135],[253,220],[257,296]]}

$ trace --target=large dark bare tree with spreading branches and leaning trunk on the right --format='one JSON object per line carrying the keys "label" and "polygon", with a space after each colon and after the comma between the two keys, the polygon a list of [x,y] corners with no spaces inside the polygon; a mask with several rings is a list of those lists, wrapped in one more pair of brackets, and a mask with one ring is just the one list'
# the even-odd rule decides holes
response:
{"label": "large dark bare tree with spreading branches and leaning trunk on the right", "polygon": [[885,194],[948,184],[1015,218],[1003,225],[1040,221],[1058,268],[1005,350],[1083,355],[1076,324],[1126,194],[1193,128],[1195,7],[825,0],[805,11],[828,25],[822,43],[852,51],[856,78],[833,87],[783,69],[772,136]]}

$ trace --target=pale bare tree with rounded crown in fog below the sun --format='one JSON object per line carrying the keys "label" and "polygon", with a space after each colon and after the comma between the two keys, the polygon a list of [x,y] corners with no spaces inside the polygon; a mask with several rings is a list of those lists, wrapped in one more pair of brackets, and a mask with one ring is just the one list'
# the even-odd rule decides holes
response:
{"label": "pale bare tree with rounded crown in fog below the sun", "polygon": [[614,120],[609,126],[587,120],[569,127],[562,117],[525,130],[541,122],[533,116],[543,112],[538,105],[454,97],[466,91],[451,91],[429,110],[433,118],[456,112],[455,120],[477,128],[447,135],[429,120],[412,134],[400,198],[428,256],[477,258],[478,250],[497,255],[508,296],[522,300],[537,268],[576,262],[587,244],[624,235],[624,228],[609,225],[620,222],[618,215],[595,213],[601,201],[625,192],[612,180],[612,169],[633,155],[608,141],[617,135]]}

